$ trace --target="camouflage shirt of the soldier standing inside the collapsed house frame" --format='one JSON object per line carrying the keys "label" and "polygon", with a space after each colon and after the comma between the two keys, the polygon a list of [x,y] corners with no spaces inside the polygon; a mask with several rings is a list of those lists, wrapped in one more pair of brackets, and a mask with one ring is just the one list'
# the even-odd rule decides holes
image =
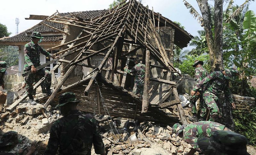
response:
{"label": "camouflage shirt of the soldier standing inside the collapsed house frame", "polygon": [[127,68],[124,69],[127,73],[135,73],[135,83],[138,85],[144,85],[144,78],[145,78],[145,65],[142,63],[136,64],[132,69],[128,70]]}

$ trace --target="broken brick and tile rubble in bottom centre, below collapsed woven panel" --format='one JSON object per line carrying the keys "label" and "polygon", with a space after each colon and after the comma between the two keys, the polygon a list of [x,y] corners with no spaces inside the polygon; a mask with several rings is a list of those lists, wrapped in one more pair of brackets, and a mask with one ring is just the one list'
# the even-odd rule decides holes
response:
{"label": "broken brick and tile rubble in bottom centre, below collapsed woven panel", "polygon": [[[178,155],[188,152],[191,148],[180,137],[175,137],[169,125],[139,123],[124,118],[105,120],[100,122],[100,126],[108,155]],[[93,149],[92,154],[95,154]]]}

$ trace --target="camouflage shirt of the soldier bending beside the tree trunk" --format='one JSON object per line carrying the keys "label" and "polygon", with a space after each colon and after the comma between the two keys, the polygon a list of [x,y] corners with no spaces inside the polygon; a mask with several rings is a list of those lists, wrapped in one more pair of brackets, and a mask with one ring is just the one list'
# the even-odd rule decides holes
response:
{"label": "camouflage shirt of the soldier bending beside the tree trunk", "polygon": [[193,91],[198,91],[206,85],[206,90],[203,96],[215,95],[219,96],[222,91],[224,91],[225,98],[227,102],[232,103],[231,93],[228,86],[228,79],[225,79],[221,71],[213,71],[211,74],[206,76],[202,81],[200,81]]}

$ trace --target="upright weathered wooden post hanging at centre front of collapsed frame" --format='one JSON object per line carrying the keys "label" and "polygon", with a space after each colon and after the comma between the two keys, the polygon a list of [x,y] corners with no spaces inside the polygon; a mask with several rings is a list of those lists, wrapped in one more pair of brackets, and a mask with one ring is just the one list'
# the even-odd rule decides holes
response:
{"label": "upright weathered wooden post hanging at centre front of collapsed frame", "polygon": [[142,99],[142,109],[141,113],[148,111],[148,86],[149,86],[149,55],[150,52],[146,50],[146,67],[145,67],[145,80],[144,80],[144,91]]}

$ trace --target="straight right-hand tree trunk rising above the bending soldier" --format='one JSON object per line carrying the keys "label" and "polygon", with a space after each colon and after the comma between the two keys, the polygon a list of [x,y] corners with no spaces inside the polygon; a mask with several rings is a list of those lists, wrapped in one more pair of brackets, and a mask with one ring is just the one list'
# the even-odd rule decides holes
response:
{"label": "straight right-hand tree trunk rising above the bending soldier", "polygon": [[212,69],[214,71],[223,70],[223,51],[222,51],[222,0],[214,1],[214,64]]}

